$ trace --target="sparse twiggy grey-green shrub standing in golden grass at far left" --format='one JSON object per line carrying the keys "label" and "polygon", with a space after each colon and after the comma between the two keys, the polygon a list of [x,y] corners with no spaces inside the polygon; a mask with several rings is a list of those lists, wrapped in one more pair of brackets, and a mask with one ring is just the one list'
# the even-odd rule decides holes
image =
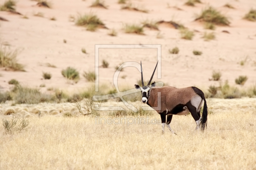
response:
{"label": "sparse twiggy grey-green shrub standing in golden grass at far left", "polygon": [[24,117],[13,116],[11,120],[3,119],[4,131],[6,134],[12,134],[21,130],[25,130],[29,125],[28,119]]}

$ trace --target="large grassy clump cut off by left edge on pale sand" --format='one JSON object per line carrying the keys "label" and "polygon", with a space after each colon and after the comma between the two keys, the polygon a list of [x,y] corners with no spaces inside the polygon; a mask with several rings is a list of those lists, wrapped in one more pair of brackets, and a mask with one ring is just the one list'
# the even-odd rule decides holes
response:
{"label": "large grassy clump cut off by left edge on pale sand", "polygon": [[17,50],[11,51],[0,47],[0,67],[13,71],[25,71],[24,66],[17,62]]}

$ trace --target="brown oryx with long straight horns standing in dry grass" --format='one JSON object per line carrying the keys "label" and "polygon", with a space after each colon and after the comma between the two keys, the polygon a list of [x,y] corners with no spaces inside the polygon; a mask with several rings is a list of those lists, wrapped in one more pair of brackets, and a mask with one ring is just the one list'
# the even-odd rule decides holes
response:
{"label": "brown oryx with long straight horns standing in dry grass", "polygon": [[[157,62],[158,63],[158,62]],[[156,66],[157,66],[156,63]],[[156,86],[156,83],[153,82],[151,85],[152,78],[154,76],[155,70],[148,82],[148,85],[144,85],[143,75],[142,75],[142,66],[141,68],[141,84],[135,85],[136,89],[140,89],[142,93],[142,102],[147,103],[150,107],[158,107],[156,112],[161,115],[162,120],[162,134],[164,134],[164,127],[166,126],[171,130],[172,133],[176,134],[170,127],[172,121],[172,115],[187,115],[189,112],[196,121],[196,130],[199,129],[201,125],[201,130],[204,131],[204,128],[207,126],[207,105],[202,90],[196,87],[186,87],[186,88],[175,88],[171,86],[159,87]],[[157,106],[159,97],[158,93],[161,92],[161,107]],[[200,115],[201,107],[204,101],[204,108],[202,118]],[[166,120],[167,115],[167,120]]]}

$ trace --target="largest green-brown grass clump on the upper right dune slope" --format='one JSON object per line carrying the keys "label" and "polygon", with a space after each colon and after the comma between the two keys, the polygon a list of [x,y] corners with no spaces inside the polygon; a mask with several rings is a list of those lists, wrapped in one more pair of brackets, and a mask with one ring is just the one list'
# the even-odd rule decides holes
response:
{"label": "largest green-brown grass clump on the upper right dune slope", "polygon": [[209,6],[207,9],[204,9],[201,14],[199,14],[196,20],[202,20],[204,22],[210,22],[217,25],[225,25],[228,26],[230,21],[226,16],[221,14],[212,6]]}

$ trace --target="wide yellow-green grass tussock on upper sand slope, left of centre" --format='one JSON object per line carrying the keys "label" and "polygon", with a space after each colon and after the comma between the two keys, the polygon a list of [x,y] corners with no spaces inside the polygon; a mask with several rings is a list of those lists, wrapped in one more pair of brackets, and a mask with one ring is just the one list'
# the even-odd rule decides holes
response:
{"label": "wide yellow-green grass tussock on upper sand slope, left of centre", "polygon": [[100,18],[92,13],[80,15],[76,19],[76,25],[85,26],[88,31],[95,31],[99,27],[106,28]]}

